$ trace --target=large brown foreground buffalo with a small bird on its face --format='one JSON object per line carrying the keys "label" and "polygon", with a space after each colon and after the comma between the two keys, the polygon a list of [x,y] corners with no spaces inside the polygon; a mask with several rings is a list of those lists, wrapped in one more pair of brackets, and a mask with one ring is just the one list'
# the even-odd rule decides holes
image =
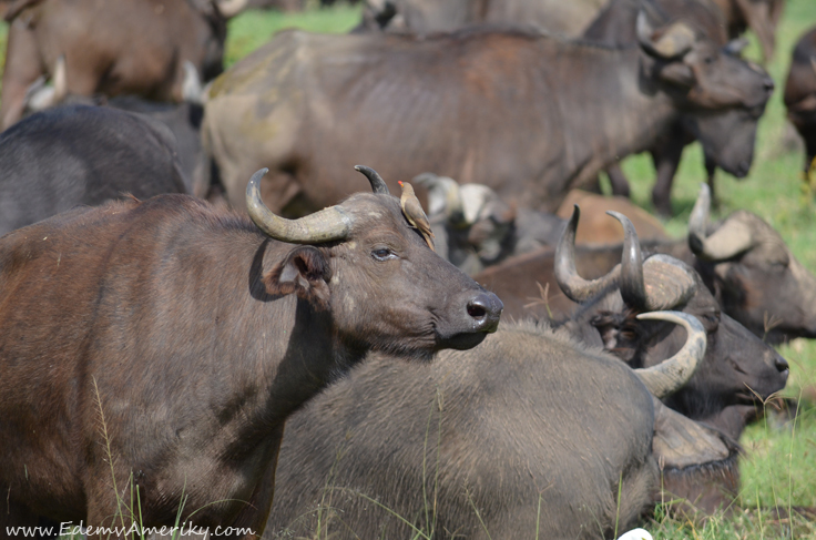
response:
{"label": "large brown foreground buffalo with a small bird on its face", "polygon": [[0,534],[116,524],[114,486],[137,489],[129,526],[261,533],[292,412],[370,350],[428,359],[497,329],[498,298],[363,171],[374,194],[297,221],[263,205],[259,171],[255,225],[163,195],[0,240]]}

